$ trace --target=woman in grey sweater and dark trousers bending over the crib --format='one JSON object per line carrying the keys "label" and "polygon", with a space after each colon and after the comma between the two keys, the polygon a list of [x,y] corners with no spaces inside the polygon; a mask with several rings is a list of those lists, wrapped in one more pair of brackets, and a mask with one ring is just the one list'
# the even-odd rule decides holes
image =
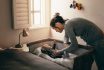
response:
{"label": "woman in grey sweater and dark trousers bending over the crib", "polygon": [[76,36],[82,38],[88,45],[94,47],[94,59],[98,70],[104,70],[104,33],[93,22],[83,18],[73,18],[65,21],[60,14],[54,16],[50,26],[56,32],[62,32],[65,29],[65,43],[71,41],[70,47],[62,52],[71,52],[78,48]]}

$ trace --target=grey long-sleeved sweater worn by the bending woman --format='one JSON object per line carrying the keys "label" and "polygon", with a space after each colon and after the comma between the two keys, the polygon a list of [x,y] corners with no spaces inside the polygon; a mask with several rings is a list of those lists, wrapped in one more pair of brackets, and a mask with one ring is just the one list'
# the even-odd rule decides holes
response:
{"label": "grey long-sleeved sweater worn by the bending woman", "polygon": [[71,41],[68,52],[78,47],[76,36],[82,38],[88,45],[104,38],[104,33],[93,22],[83,19],[74,18],[65,23],[65,39],[66,42]]}

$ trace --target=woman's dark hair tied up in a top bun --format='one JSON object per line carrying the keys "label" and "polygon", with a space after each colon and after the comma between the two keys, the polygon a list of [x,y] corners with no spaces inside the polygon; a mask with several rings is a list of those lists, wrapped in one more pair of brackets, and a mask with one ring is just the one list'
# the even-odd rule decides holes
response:
{"label": "woman's dark hair tied up in a top bun", "polygon": [[50,26],[51,27],[55,27],[55,24],[57,22],[60,22],[61,24],[65,23],[65,20],[63,19],[62,16],[60,16],[60,13],[56,13],[55,16],[52,18],[51,22],[50,22]]}

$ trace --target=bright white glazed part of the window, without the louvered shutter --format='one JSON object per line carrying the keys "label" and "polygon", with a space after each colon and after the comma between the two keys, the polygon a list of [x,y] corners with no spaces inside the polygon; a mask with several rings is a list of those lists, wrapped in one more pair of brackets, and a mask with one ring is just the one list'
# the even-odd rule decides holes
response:
{"label": "bright white glazed part of the window, without the louvered shutter", "polygon": [[[32,28],[46,27],[48,26],[46,13],[48,12],[48,0],[31,0],[31,25]],[[49,17],[49,15],[48,15]],[[47,18],[47,20],[46,20]]]}

